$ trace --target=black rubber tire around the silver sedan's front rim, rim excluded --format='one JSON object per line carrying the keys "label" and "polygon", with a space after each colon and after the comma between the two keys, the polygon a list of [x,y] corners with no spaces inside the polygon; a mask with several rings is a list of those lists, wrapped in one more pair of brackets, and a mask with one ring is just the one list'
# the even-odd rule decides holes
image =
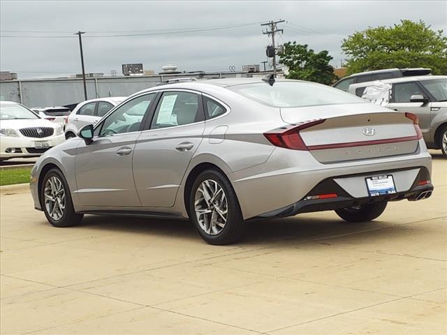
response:
{"label": "black rubber tire around the silver sedan's front rim, rim excluded", "polygon": [[[52,218],[52,216],[50,216],[47,206],[45,205],[45,185],[47,184],[48,179],[50,179],[51,177],[56,177],[57,179],[59,179],[59,181],[61,181],[61,185],[64,188],[65,193],[65,209],[63,211],[61,218],[57,220]],[[41,206],[43,212],[45,213],[48,222],[54,225],[54,227],[66,228],[66,227],[72,227],[73,225],[78,225],[78,223],[80,223],[84,214],[78,214],[75,212],[75,209],[73,208],[73,201],[71,200],[70,188],[68,188],[68,184],[64,177],[64,174],[62,174],[62,172],[59,169],[52,168],[45,174],[45,177],[43,177],[40,192],[41,192]]]}

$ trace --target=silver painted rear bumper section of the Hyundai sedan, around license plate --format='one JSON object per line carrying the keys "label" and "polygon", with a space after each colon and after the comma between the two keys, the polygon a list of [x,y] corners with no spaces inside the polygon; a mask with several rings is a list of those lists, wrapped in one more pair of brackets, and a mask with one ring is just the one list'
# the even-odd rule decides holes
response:
{"label": "silver painted rear bumper section of the Hyundai sedan, around license plate", "polygon": [[411,155],[331,164],[318,163],[309,151],[277,148],[267,162],[228,177],[247,220],[294,205],[329,178],[337,179],[349,198],[361,199],[369,198],[365,177],[393,172],[397,193],[405,194],[422,168],[430,175],[432,161],[425,144]]}

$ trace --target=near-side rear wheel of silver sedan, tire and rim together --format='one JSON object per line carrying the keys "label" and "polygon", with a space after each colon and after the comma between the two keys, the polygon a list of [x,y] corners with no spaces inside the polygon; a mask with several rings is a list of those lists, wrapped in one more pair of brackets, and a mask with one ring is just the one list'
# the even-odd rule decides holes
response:
{"label": "near-side rear wheel of silver sedan, tire and rim together", "polygon": [[235,191],[218,170],[198,175],[189,195],[189,213],[197,232],[209,244],[232,244],[244,234]]}

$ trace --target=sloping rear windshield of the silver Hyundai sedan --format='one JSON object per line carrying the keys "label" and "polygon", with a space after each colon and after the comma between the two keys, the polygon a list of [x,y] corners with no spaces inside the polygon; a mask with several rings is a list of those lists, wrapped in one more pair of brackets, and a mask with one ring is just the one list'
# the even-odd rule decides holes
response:
{"label": "sloping rear windshield of the silver Hyundai sedan", "polygon": [[242,84],[228,89],[251,100],[272,107],[305,107],[318,105],[340,105],[344,103],[365,103],[365,100],[314,82],[266,82]]}

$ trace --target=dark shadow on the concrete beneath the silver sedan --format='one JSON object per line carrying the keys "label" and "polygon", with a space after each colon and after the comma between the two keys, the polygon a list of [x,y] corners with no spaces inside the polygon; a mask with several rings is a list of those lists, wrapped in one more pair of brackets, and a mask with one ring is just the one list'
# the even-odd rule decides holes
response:
{"label": "dark shadow on the concrete beneath the silver sedan", "polygon": [[[315,216],[293,216],[261,221],[248,221],[247,232],[237,245],[296,244],[303,241],[326,239],[340,235],[370,232],[374,237],[380,228],[393,228],[383,221],[346,223],[339,218],[316,218]],[[78,229],[110,230],[135,234],[148,234],[168,239],[202,242],[187,220],[139,218],[132,216],[85,216]],[[388,232],[389,233],[389,232]],[[386,232],[383,234],[386,237]],[[363,237],[365,238],[365,237]],[[369,238],[369,237],[368,237]],[[205,242],[203,242],[205,243]]]}

